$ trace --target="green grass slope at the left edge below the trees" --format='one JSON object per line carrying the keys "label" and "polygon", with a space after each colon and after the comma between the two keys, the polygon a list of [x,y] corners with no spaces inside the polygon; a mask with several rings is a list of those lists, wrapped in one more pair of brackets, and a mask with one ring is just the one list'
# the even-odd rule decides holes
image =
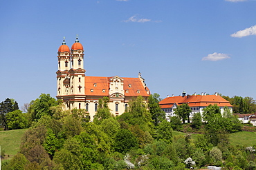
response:
{"label": "green grass slope at the left edge below the trees", "polygon": [[11,159],[19,151],[21,137],[27,130],[28,129],[0,131],[1,149],[6,150],[5,159],[7,160]]}

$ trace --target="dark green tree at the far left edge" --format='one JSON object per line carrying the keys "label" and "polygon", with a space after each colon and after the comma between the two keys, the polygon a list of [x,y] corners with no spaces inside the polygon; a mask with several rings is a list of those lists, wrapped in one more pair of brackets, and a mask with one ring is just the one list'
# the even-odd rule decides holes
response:
{"label": "dark green tree at the far left edge", "polygon": [[6,114],[19,109],[18,103],[12,98],[6,98],[0,103],[0,124],[3,125],[4,130],[8,129]]}

